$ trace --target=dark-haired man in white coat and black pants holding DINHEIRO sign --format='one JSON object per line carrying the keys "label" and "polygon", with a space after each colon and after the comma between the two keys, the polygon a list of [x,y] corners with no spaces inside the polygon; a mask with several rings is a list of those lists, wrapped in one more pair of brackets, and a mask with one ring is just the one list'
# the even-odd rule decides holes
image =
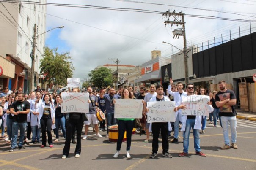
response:
{"label": "dark-haired man in white coat and black pants holding DINHEIRO sign", "polygon": [[[165,97],[163,95],[163,86],[161,84],[157,84],[157,95],[153,96],[149,101],[150,102],[163,102],[163,101],[170,101],[169,97]],[[171,101],[170,101],[171,103]],[[147,103],[147,107],[149,107],[149,103]],[[149,112],[149,108],[146,109],[146,112]],[[149,118],[150,113],[148,113]],[[173,113],[174,116],[174,113]],[[150,128],[149,128],[150,129]],[[157,156],[158,151],[158,138],[159,133],[161,130],[161,136],[162,136],[162,156],[167,158],[172,158],[171,154],[169,154],[169,143],[168,143],[168,131],[171,129],[170,122],[154,122],[151,124],[151,129],[153,133],[153,141],[152,141],[152,153],[150,155],[151,158],[154,158]]]}

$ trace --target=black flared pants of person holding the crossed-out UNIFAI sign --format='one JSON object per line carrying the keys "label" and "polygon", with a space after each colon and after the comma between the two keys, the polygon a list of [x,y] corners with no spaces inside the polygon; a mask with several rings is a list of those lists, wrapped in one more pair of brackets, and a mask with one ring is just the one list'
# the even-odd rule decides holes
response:
{"label": "black flared pants of person holding the crossed-out UNIFAI sign", "polygon": [[72,133],[74,132],[75,129],[77,131],[77,145],[76,145],[74,154],[81,153],[81,133],[82,133],[83,124],[84,124],[81,117],[80,119],[69,119],[68,121],[66,121],[66,143],[62,152],[63,155],[69,156],[70,140],[73,137]]}

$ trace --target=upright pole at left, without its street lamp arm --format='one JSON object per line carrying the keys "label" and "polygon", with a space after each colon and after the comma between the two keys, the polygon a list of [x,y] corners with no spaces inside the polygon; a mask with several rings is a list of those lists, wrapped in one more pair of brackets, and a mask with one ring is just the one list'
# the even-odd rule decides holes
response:
{"label": "upright pole at left, without its street lamp arm", "polygon": [[35,86],[35,55],[36,55],[36,24],[34,25],[33,45],[32,45],[32,56],[31,56],[31,88],[30,91],[34,90]]}

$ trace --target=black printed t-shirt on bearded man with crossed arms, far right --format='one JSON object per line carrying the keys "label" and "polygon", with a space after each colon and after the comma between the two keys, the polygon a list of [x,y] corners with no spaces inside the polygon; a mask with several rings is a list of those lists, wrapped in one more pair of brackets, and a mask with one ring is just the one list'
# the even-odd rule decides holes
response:
{"label": "black printed t-shirt on bearded man with crossed arms, far right", "polygon": [[[215,96],[215,100],[217,101],[223,101],[226,99],[236,99],[236,95],[232,90],[227,89],[226,92],[217,92]],[[236,116],[236,113],[234,111],[234,106],[232,105],[223,105],[220,106],[220,116]]]}

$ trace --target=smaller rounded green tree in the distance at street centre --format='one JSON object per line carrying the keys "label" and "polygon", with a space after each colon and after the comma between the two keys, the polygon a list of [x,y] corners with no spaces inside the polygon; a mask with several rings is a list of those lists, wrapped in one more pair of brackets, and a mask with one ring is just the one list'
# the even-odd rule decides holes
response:
{"label": "smaller rounded green tree in the distance at street centre", "polygon": [[91,70],[90,73],[88,73],[88,76],[91,78],[91,82],[93,83],[93,86],[96,87],[107,87],[110,84],[113,84],[113,75],[111,73],[112,71],[106,67],[100,67],[96,70]]}

